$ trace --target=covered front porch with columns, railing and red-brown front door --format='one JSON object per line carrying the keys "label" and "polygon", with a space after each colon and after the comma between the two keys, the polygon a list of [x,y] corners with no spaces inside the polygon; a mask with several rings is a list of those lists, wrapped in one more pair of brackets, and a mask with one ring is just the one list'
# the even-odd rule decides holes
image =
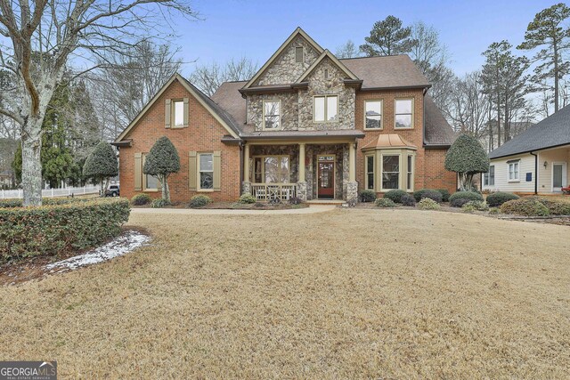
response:
{"label": "covered front porch with columns, railing and red-brown front door", "polygon": [[246,141],[242,192],[258,201],[357,198],[355,139]]}

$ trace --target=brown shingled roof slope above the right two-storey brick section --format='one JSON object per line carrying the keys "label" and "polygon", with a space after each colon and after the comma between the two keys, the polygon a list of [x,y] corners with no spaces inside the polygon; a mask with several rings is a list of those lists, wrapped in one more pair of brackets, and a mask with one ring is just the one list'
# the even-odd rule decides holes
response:
{"label": "brown shingled roof slope above the right two-storey brick section", "polygon": [[405,54],[338,61],[341,61],[356,77],[362,79],[361,90],[431,86],[428,78]]}

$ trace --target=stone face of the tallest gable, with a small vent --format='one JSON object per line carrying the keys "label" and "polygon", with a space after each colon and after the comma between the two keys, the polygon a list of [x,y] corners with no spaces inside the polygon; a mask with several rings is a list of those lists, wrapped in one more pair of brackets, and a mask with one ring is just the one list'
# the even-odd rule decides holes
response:
{"label": "stone face of the tallest gable, with a small vent", "polygon": [[[295,48],[303,46],[303,62],[297,62]],[[273,64],[265,70],[254,85],[289,85],[295,83],[306,69],[321,55],[303,36],[293,38]]]}

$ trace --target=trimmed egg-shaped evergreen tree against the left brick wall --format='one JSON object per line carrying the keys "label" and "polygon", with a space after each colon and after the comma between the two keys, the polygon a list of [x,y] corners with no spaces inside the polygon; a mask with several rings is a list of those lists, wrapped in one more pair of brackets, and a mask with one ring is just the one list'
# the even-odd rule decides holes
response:
{"label": "trimmed egg-shaped evergreen tree against the left brick wall", "polygon": [[180,157],[173,143],[167,136],[157,140],[146,156],[142,173],[151,174],[159,179],[162,185],[162,198],[170,202],[170,190],[168,189],[168,176],[180,170]]}

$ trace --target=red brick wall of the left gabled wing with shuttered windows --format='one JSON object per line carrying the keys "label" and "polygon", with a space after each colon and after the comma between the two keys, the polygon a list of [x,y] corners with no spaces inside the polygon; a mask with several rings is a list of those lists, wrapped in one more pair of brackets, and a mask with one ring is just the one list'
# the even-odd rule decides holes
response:
{"label": "red brick wall of the left gabled wing with shuttered windows", "polygon": [[[165,128],[165,101],[167,99],[189,98],[189,126],[187,128]],[[126,139],[133,139],[129,148],[119,151],[119,179],[121,196],[132,198],[134,190],[134,153],[148,153],[159,137],[167,136],[175,145],[180,156],[180,172],[168,179],[171,198],[174,202],[187,202],[196,194],[206,194],[216,201],[232,201],[240,197],[240,148],[225,145],[220,140],[229,134],[223,125],[209,114],[199,101],[175,81],[170,85],[151,109],[134,125]],[[190,191],[188,184],[188,152],[222,152],[221,191]],[[144,191],[153,198],[160,198],[158,191]]]}

